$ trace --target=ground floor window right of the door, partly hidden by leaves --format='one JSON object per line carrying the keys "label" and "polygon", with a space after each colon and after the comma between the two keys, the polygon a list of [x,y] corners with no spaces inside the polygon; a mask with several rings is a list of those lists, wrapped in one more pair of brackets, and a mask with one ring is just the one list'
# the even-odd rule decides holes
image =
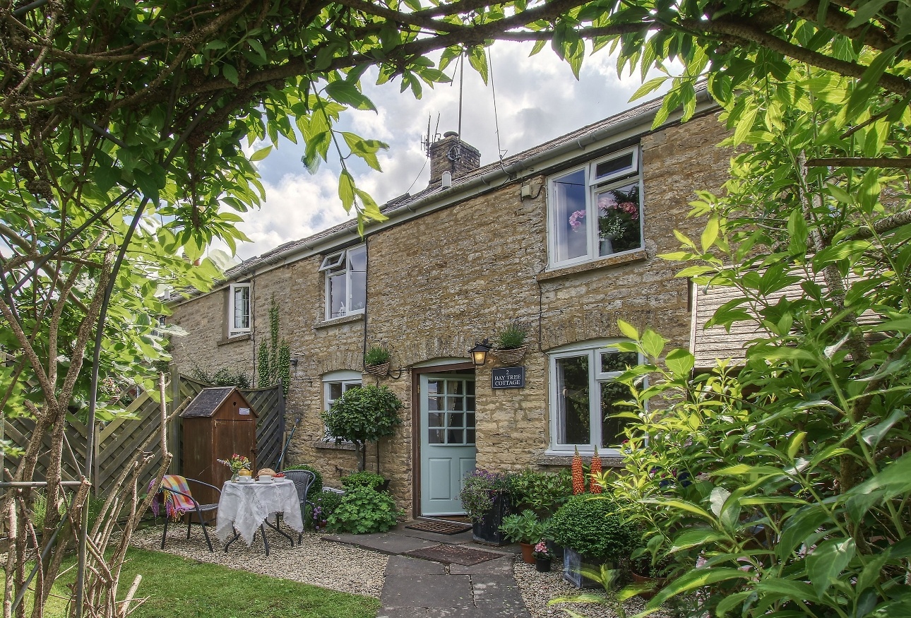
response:
{"label": "ground floor window right of the door, partly hidden by leaves", "polygon": [[620,352],[610,343],[575,345],[550,355],[550,450],[610,453],[623,440],[624,411],[618,402],[630,398],[628,386],[614,378],[640,362],[635,352]]}

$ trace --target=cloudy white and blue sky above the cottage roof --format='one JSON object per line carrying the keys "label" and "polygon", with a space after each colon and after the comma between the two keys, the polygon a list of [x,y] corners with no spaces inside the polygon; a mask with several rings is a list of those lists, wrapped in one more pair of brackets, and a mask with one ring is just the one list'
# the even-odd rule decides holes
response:
{"label": "cloudy white and blue sky above the cottage roof", "polygon": [[[607,53],[586,57],[577,81],[549,47],[534,57],[528,57],[530,50],[530,44],[492,46],[493,77],[487,85],[466,63],[462,137],[481,151],[482,165],[495,161],[500,153],[514,155],[633,105],[630,96],[639,88],[640,77],[619,79],[616,60]],[[454,69],[455,63],[447,68],[447,75],[453,75]],[[428,118],[431,131],[437,128],[437,118],[440,134],[457,129],[455,77],[452,85],[425,88],[423,98],[415,99],[410,90],[399,92],[399,80],[375,86],[375,71],[364,75],[364,93],[378,113],[347,112],[339,128],[389,144],[379,155],[383,172],[357,162],[349,166],[358,187],[377,203],[427,186],[430,165],[421,140]],[[246,213],[246,221],[240,224],[251,239],[238,248],[241,260],[348,219],[338,199],[337,161],[330,160],[312,175],[301,156],[301,145],[283,141],[260,161],[266,201],[261,210]]]}

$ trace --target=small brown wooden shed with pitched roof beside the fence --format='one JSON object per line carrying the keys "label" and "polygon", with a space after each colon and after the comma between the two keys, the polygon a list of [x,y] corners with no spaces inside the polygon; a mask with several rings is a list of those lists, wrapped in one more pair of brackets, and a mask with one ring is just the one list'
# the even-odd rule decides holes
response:
{"label": "small brown wooden shed with pitched roof beside the fence", "polygon": [[[236,386],[203,388],[180,413],[183,419],[183,476],[215,487],[230,479],[230,468],[218,459],[234,453],[246,456],[255,467],[256,411]],[[214,489],[190,483],[193,497],[202,504],[219,501]]]}

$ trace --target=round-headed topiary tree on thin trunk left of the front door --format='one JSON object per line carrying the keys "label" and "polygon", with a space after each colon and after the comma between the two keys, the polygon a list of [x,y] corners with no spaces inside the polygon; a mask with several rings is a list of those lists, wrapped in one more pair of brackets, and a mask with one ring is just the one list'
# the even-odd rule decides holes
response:
{"label": "round-headed topiary tree on thin trunk left of the front door", "polygon": [[402,423],[399,413],[403,407],[401,399],[395,397],[387,386],[352,388],[322,413],[322,422],[336,444],[343,440],[354,443],[361,454],[359,465],[363,470],[367,458],[366,443],[392,436],[395,427]]}

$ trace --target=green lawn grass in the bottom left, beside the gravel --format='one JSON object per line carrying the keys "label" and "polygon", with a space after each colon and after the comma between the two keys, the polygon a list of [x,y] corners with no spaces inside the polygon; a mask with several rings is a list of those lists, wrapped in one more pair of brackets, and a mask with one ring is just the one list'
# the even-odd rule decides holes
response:
{"label": "green lawn grass in the bottom left, beside the gravel", "polygon": [[[275,570],[281,572],[282,565]],[[56,594],[68,594],[74,572],[57,580]],[[138,549],[128,551],[120,597],[137,573],[142,574],[137,596],[148,600],[130,614],[133,618],[374,618],[380,607],[370,597]],[[47,618],[64,618],[64,603],[52,597]]]}

